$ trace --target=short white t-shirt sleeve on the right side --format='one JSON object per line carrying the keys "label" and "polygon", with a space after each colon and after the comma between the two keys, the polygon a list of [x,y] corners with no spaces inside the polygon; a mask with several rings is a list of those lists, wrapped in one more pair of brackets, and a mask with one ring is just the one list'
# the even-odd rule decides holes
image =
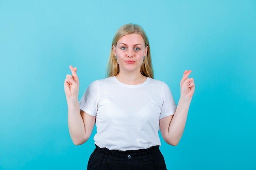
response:
{"label": "short white t-shirt sleeve on the right side", "polygon": [[171,93],[170,88],[168,87],[167,84],[164,83],[164,88],[163,88],[163,106],[161,109],[161,114],[160,114],[160,119],[174,115],[176,111],[177,105],[173,99],[173,95]]}

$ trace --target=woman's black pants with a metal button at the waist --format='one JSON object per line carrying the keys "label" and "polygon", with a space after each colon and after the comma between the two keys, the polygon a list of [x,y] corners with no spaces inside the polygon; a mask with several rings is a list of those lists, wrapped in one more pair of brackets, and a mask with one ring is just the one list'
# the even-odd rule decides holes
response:
{"label": "woman's black pants with a metal button at the waist", "polygon": [[127,151],[96,146],[87,170],[166,170],[166,165],[159,146]]}

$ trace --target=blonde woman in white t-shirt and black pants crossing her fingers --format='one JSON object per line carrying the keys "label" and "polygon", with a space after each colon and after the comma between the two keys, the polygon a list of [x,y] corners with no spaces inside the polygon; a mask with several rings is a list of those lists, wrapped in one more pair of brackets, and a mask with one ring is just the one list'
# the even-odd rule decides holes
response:
{"label": "blonde woman in white t-shirt and black pants crossing her fingers", "polygon": [[74,144],[85,143],[97,126],[88,170],[166,170],[158,131],[168,144],[179,143],[195,89],[191,71],[184,72],[176,106],[168,86],[153,79],[148,38],[137,24],[118,29],[108,78],[92,82],[80,102],[77,68],[70,70],[64,87]]}

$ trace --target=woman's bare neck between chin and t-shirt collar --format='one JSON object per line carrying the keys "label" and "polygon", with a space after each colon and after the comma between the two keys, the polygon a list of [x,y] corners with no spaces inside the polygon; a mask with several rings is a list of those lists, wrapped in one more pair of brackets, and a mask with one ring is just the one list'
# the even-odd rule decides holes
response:
{"label": "woman's bare neck between chin and t-shirt collar", "polygon": [[139,73],[139,74],[119,73],[118,75],[116,75],[116,78],[118,79],[119,82],[122,82],[124,84],[129,84],[129,85],[142,84],[147,79],[147,77],[142,75],[141,73]]}

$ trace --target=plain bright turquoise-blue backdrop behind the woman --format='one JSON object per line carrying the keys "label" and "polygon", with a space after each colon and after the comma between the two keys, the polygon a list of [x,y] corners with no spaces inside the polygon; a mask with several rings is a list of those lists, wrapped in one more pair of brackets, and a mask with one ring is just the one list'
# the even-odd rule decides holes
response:
{"label": "plain bright turquoise-blue backdrop behind the woman", "polygon": [[63,82],[78,67],[80,99],[104,78],[127,23],[145,29],[155,79],[176,102],[183,71],[193,70],[184,135],[160,148],[167,168],[256,169],[254,0],[0,0],[0,169],[86,169],[93,137],[72,143]]}

